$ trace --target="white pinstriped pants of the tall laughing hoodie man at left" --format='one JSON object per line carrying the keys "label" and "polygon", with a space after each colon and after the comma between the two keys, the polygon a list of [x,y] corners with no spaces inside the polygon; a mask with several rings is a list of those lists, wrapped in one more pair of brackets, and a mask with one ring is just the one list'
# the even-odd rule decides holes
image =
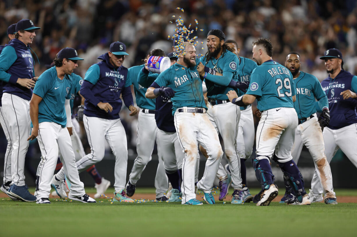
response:
{"label": "white pinstriped pants of the tall laughing hoodie man at left", "polygon": [[11,179],[17,186],[25,185],[25,156],[31,134],[30,101],[9,93],[2,94],[2,111],[9,125],[12,142]]}

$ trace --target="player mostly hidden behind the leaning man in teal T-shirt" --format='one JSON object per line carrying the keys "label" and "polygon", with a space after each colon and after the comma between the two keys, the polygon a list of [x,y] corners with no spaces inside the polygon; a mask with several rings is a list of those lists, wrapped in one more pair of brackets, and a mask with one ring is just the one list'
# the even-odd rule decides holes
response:
{"label": "player mostly hidden behind the leaning man in teal T-shirt", "polygon": [[[73,104],[74,104],[74,98],[76,97],[77,93],[79,93],[79,90],[81,88],[81,85],[83,83],[83,79],[81,78],[81,76],[72,73],[71,75],[71,79],[72,79],[72,87],[70,90],[70,99],[69,101],[69,106],[71,108],[71,115],[73,115]],[[84,103],[84,101],[83,101]],[[84,105],[79,106],[79,109],[84,109]],[[72,116],[73,117],[73,116]],[[83,118],[82,120],[83,121]],[[82,157],[84,157],[86,154],[84,152],[84,148],[82,145],[82,142],[78,136],[79,133],[79,123],[76,120],[75,117],[73,117],[71,119],[72,124],[67,124],[67,129],[70,132],[71,135],[71,142],[72,142],[72,147],[73,147],[73,151],[75,154],[75,159],[76,161],[80,160]],[[72,127],[69,127],[71,126]],[[74,129],[73,129],[74,128]],[[57,159],[57,165],[58,165],[58,159]],[[94,187],[97,190],[97,193],[94,194],[94,198],[98,198],[100,197],[102,194],[105,193],[105,191],[109,188],[110,186],[110,181],[104,179],[103,177],[100,176],[99,172],[97,171],[95,165],[92,165],[91,167],[89,167],[89,169],[86,170],[87,173],[89,175],[91,175],[91,177],[94,179],[95,181],[95,185]],[[64,185],[64,179],[65,179],[65,173],[64,173],[64,168],[62,166],[62,168],[59,170],[59,172],[57,172],[57,174],[54,175],[54,177],[52,178],[52,183],[51,186],[55,189],[54,192],[52,192],[52,195],[58,195],[61,198],[65,198],[66,192],[65,192],[65,185]]]}

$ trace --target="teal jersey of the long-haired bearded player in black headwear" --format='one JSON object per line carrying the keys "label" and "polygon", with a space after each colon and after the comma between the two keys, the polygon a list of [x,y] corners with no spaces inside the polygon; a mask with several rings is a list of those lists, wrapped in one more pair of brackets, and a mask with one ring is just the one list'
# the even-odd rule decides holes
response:
{"label": "teal jersey of the long-haired bearded player in black headwear", "polygon": [[[221,74],[224,72],[231,72],[233,73],[231,79],[238,81],[239,59],[237,55],[231,51],[226,51],[218,59],[212,58],[207,63],[206,57],[201,57],[198,59],[198,63],[200,62],[206,67],[212,68]],[[226,94],[228,91],[233,90],[227,86],[215,84],[210,80],[205,80],[205,83],[207,87],[207,98],[213,100],[227,100],[228,97]],[[238,92],[237,89],[234,90]]]}

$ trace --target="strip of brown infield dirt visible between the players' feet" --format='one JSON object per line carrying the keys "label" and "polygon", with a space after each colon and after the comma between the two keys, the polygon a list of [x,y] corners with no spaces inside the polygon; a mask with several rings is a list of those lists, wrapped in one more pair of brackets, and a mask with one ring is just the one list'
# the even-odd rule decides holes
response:
{"label": "strip of brown infield dirt visible between the players' feet", "polygon": [[[88,193],[89,196],[93,197],[94,196],[94,193]],[[111,194],[111,193],[108,193],[106,194],[107,197],[113,197],[114,195]],[[50,198],[56,198],[58,196],[52,196],[50,195]],[[198,200],[203,200],[202,199],[203,195],[202,194],[197,194],[197,199]],[[277,198],[275,198],[273,201],[275,202],[278,202],[280,201],[280,199],[282,198],[283,196],[282,195],[278,195]],[[0,200],[2,199],[9,199],[9,197],[0,192]],[[101,197],[102,199],[105,199],[105,197]],[[154,193],[141,193],[141,194],[134,194],[132,196],[133,199],[137,199],[137,200],[140,200],[140,199],[149,199],[149,200],[154,200],[155,199],[155,194]],[[215,199],[218,200],[218,195],[215,195]],[[230,202],[231,201],[231,196],[230,195],[227,195],[226,199],[224,199],[224,201],[226,202]],[[347,202],[347,203],[357,203],[357,196],[337,196],[337,201],[338,202]]]}

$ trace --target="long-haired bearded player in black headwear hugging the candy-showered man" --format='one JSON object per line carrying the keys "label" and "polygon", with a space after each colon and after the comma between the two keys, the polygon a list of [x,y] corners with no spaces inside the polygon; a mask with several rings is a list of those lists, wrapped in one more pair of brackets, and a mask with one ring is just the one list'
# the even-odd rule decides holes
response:
{"label": "long-haired bearded player in black headwear hugging the candy-showered man", "polygon": [[[237,81],[239,59],[229,50],[224,40],[225,34],[221,30],[211,30],[208,32],[208,52],[204,57],[198,59],[200,64],[198,64],[197,70],[201,76],[205,77],[207,99],[212,105],[212,108],[207,111],[207,115],[213,127],[215,127],[216,131],[222,136],[226,157],[230,165],[234,189],[231,203],[243,204],[240,159],[245,158],[245,153],[244,150],[240,151],[240,149],[237,148],[238,123],[241,112],[239,107],[229,102],[226,95],[227,92],[231,90],[231,88],[227,87],[228,84],[231,81]],[[217,73],[211,74],[210,69],[215,70],[215,72],[220,73],[220,75],[217,75]],[[225,80],[227,84],[221,86],[209,81],[210,78],[213,77],[220,81]],[[224,169],[222,170],[225,173]],[[197,186],[197,188],[199,187]],[[228,189],[226,190],[228,193]],[[227,193],[221,191],[219,200],[223,200]]]}

